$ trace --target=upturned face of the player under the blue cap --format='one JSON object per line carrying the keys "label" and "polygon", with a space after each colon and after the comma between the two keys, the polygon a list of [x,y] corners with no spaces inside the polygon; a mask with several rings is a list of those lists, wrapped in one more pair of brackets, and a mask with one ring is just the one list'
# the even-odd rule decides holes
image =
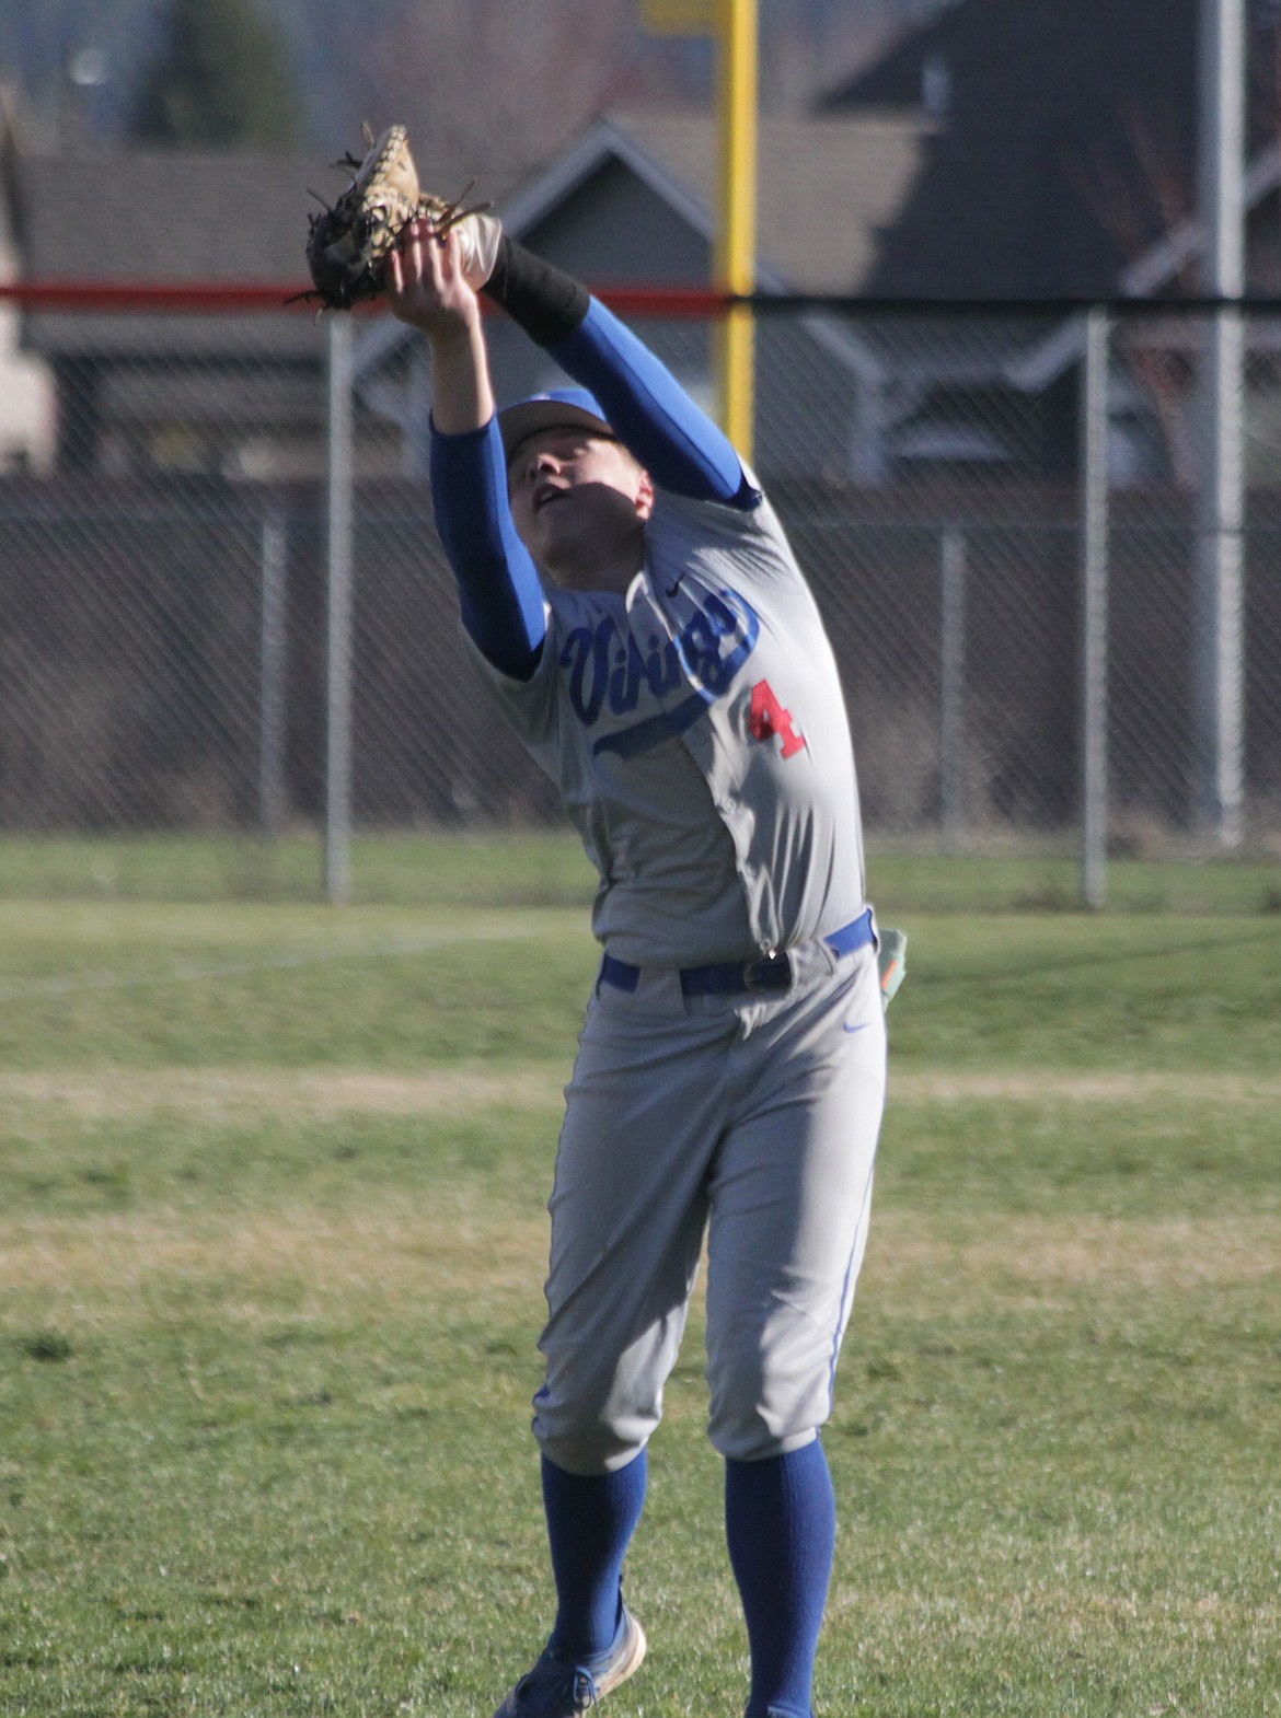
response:
{"label": "upturned face of the player under the blue cap", "polygon": [[640,570],[653,484],[628,450],[588,430],[540,430],[507,462],[521,541],[557,584],[607,589]]}

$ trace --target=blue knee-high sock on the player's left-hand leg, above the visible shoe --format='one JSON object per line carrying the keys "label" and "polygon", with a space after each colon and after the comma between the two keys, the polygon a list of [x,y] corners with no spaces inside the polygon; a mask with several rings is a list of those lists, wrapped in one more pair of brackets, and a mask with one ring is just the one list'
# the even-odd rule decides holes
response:
{"label": "blue knee-high sock on the player's left-hand leg, above the visible shoe", "polygon": [[567,1474],[543,1457],[543,1508],[555,1579],[552,1649],[604,1653],[622,1620],[622,1558],[645,1507],[645,1450],[612,1474]]}

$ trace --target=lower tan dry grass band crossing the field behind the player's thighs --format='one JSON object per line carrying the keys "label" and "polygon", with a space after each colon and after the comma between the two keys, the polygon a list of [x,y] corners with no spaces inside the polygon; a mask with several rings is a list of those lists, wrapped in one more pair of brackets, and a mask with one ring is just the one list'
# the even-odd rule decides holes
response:
{"label": "lower tan dry grass band crossing the field behind the player's thighs", "polygon": [[[100,1316],[163,1280],[304,1283],[316,1309],[346,1301],[411,1302],[449,1295],[535,1295],[547,1261],[547,1218],[495,1215],[483,1189],[454,1191],[432,1209],[387,1203],[332,1218],[179,1213],[24,1218],[0,1240],[0,1290],[89,1295]],[[872,1225],[863,1294],[949,1306],[994,1295],[1045,1304],[1057,1294],[1181,1294],[1195,1287],[1278,1283],[1281,1218],[1137,1223],[1020,1216],[985,1234],[954,1221],[886,1211]]]}

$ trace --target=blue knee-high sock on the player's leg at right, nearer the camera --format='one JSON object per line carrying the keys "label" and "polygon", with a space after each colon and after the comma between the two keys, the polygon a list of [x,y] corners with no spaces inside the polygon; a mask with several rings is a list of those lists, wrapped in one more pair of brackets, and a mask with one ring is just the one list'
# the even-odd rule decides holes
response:
{"label": "blue knee-high sock on the player's leg at right, nearer the camera", "polygon": [[726,1536],[751,1648],[748,1718],[810,1718],[836,1548],[836,1496],[815,1438],[791,1455],[726,1462]]}

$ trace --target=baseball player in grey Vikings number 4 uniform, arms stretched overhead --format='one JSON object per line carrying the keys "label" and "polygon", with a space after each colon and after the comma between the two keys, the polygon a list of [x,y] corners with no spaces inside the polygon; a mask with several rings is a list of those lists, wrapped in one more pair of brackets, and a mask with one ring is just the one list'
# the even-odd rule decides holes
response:
{"label": "baseball player in grey Vikings number 4 uniform, arms stretched overhead", "polygon": [[[533,1404],[557,1611],[497,1718],[573,1718],[645,1656],[622,1563],[703,1239],[746,1713],[812,1718],[886,1082],[832,651],[755,476],[578,282],[507,235],[480,280],[420,220],[387,283],[432,349],[466,648],[600,874]],[[495,414],[478,290],[578,387]]]}

